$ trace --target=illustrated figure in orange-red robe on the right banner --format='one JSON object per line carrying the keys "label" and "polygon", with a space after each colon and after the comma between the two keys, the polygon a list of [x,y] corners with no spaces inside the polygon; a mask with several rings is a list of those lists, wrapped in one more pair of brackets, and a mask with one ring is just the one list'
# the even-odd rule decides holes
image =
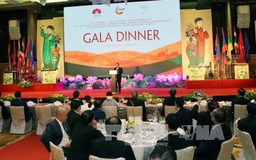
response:
{"label": "illustrated figure in orange-red robe on the right banner", "polygon": [[196,45],[195,45],[195,60],[198,62],[199,65],[204,65],[205,61],[205,39],[209,38],[209,34],[206,29],[203,29],[203,19],[198,17],[195,19],[195,38],[196,38]]}

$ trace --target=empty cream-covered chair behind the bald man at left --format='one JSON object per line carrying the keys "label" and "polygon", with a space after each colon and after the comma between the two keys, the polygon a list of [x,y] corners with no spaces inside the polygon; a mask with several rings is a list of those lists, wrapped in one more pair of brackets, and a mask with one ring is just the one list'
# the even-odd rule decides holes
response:
{"label": "empty cream-covered chair behind the bald man at left", "polygon": [[36,127],[36,135],[42,135],[46,125],[52,120],[51,107],[35,106],[36,118],[38,119],[38,126]]}

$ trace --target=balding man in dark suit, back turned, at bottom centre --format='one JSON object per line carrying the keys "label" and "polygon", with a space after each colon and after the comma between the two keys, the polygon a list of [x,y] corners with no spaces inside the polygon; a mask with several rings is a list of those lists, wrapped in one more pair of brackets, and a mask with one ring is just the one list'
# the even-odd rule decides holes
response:
{"label": "balding man in dark suit, back turned, at bottom centre", "polygon": [[93,140],[90,148],[90,155],[101,158],[118,158],[123,157],[129,160],[135,160],[135,156],[130,144],[117,139],[122,122],[116,116],[109,117],[106,120],[105,128],[107,136]]}

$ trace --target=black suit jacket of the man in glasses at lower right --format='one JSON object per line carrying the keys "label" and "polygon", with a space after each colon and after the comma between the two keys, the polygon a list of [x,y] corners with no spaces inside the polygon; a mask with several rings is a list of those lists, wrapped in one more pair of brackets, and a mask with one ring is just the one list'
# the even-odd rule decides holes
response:
{"label": "black suit jacket of the man in glasses at lower right", "polygon": [[[222,124],[222,125],[216,127],[215,131],[216,131],[216,129],[222,130],[224,140],[219,140],[218,138],[215,138],[214,140],[203,140],[203,142],[195,150],[194,159],[202,159],[202,160],[203,159],[211,159],[211,160],[217,159],[222,143],[224,141],[232,138],[232,133],[231,133],[230,127],[228,127],[227,124]],[[217,132],[217,133],[220,133],[220,132]]]}

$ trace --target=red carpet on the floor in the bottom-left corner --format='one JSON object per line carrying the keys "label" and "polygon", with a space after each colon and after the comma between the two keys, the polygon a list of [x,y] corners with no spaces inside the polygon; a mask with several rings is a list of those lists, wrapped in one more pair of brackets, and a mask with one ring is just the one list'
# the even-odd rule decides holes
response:
{"label": "red carpet on the floor in the bottom-left corner", "polygon": [[49,160],[49,153],[40,136],[29,135],[18,142],[0,149],[1,160]]}

